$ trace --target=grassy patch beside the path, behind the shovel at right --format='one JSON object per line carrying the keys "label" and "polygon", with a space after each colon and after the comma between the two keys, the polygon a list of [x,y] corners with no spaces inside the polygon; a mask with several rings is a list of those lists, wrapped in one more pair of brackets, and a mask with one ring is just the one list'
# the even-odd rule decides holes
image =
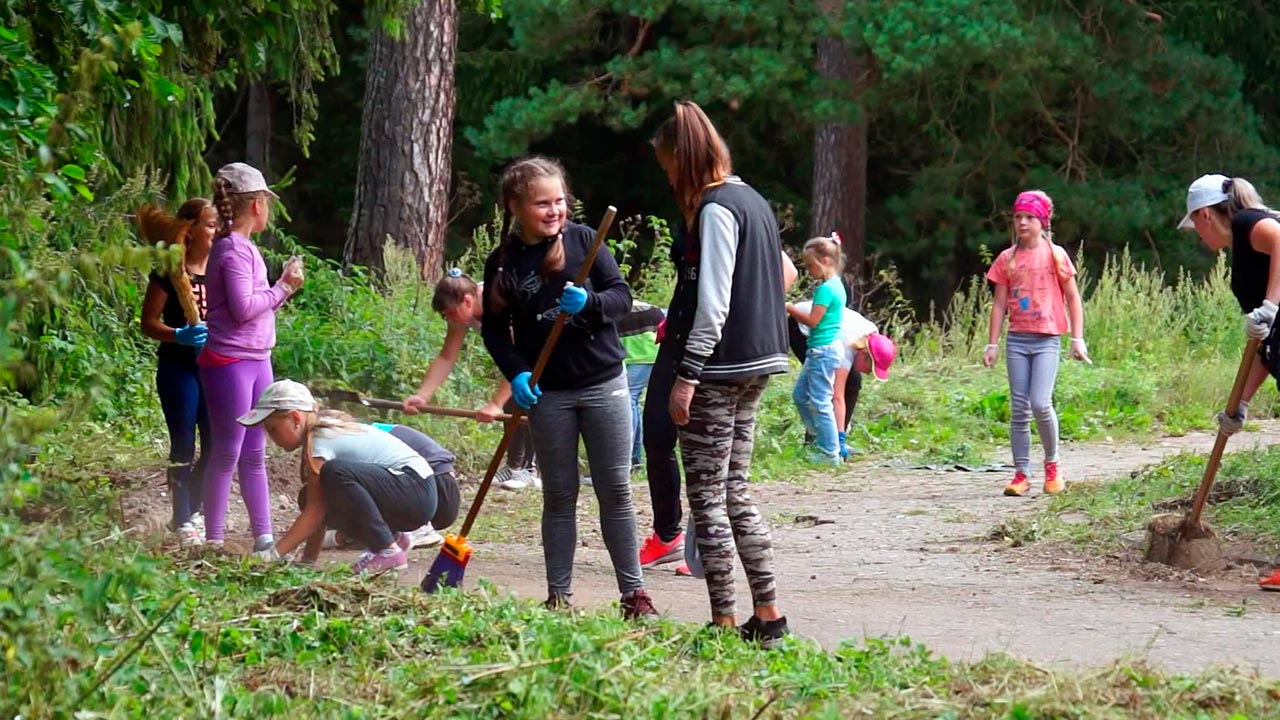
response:
{"label": "grassy patch beside the path, behind the shovel at right", "polygon": [[[1157,512],[1184,512],[1204,473],[1207,452],[1181,454],[1126,477],[1074,483],[1028,519],[1010,519],[995,536],[1014,544],[1066,541],[1116,550],[1126,533],[1142,532]],[[1206,520],[1219,534],[1280,550],[1280,447],[1245,450],[1222,459]],[[1064,521],[1064,515],[1085,520]]]}

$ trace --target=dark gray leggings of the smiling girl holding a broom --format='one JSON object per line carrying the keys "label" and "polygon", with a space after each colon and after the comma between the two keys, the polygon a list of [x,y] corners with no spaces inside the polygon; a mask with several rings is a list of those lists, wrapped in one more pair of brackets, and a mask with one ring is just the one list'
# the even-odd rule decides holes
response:
{"label": "dark gray leggings of the smiling girl holding a broom", "polygon": [[547,587],[568,597],[577,548],[577,438],[586,446],[600,530],[622,594],[644,587],[631,502],[631,391],[626,373],[581,388],[543,391],[529,415],[543,475]]}

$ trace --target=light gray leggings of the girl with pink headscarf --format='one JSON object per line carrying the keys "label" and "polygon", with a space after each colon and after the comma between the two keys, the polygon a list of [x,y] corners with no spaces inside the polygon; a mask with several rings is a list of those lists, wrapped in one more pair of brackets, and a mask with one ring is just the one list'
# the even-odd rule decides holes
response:
{"label": "light gray leggings of the girl with pink headscarf", "polygon": [[1062,351],[1057,336],[1009,333],[1005,361],[1009,366],[1010,445],[1014,469],[1027,473],[1032,464],[1032,416],[1044,446],[1044,461],[1057,462],[1057,413],[1053,383]]}

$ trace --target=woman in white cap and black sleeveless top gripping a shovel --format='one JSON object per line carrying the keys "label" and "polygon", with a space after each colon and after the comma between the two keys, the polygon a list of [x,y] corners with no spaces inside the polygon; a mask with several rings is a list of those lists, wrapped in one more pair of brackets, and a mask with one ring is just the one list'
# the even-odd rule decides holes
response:
{"label": "woman in white cap and black sleeveless top gripping a shovel", "polygon": [[[1187,217],[1179,229],[1194,229],[1210,250],[1231,249],[1231,293],[1244,313],[1244,332],[1265,340],[1276,319],[1280,301],[1280,213],[1267,208],[1253,184],[1244,178],[1202,176],[1187,190]],[[1267,369],[1254,360],[1244,384],[1240,407],[1234,416],[1219,413],[1219,427],[1234,434],[1244,427],[1249,400],[1262,387]],[[1265,591],[1280,591],[1280,570],[1263,578]]]}

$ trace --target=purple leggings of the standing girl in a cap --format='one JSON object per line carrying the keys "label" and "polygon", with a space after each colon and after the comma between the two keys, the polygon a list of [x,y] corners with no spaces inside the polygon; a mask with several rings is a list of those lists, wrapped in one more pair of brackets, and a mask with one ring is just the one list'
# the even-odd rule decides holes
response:
{"label": "purple leggings of the standing girl in a cap", "polygon": [[205,468],[205,539],[223,539],[232,474],[239,470],[241,497],[248,509],[253,537],[271,532],[271,505],[266,486],[266,433],[262,425],[246,428],[236,421],[253,407],[271,384],[270,360],[238,360],[221,368],[201,368],[212,451]]}

